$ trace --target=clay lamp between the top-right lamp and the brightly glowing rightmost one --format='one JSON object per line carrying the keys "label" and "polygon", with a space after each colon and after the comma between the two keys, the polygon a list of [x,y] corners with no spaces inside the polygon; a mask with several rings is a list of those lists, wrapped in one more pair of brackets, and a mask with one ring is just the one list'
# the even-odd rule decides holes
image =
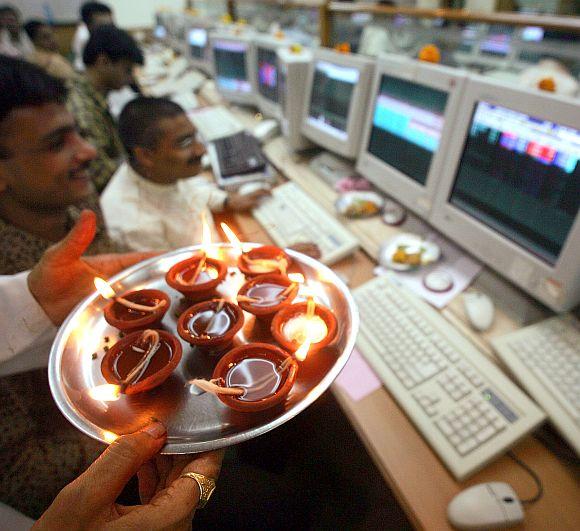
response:
{"label": "clay lamp between the top-right lamp and the brightly glowing rightmost one", "polygon": [[288,306],[298,294],[298,284],[285,275],[259,275],[248,280],[238,291],[240,307],[258,319],[270,320]]}

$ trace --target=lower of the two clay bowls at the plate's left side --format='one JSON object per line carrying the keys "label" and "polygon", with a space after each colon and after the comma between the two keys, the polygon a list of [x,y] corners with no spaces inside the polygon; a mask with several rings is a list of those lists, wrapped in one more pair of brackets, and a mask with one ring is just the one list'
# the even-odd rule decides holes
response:
{"label": "lower of the two clay bowls at the plate's left side", "polygon": [[[139,380],[135,384],[128,385],[123,391],[127,395],[133,395],[136,393],[142,393],[144,391],[149,391],[158,385],[161,385],[177,367],[179,361],[181,360],[181,343],[180,341],[169,332],[163,330],[157,330],[159,333],[159,339],[161,341],[161,347],[157,353],[153,356],[149,367],[145,371],[145,378]],[[108,383],[121,385],[123,378],[129,374],[129,372],[135,367],[139,362],[143,354],[134,352],[133,350],[128,350],[131,345],[138,342],[143,334],[142,331],[132,332],[128,334],[123,339],[120,339],[115,343],[109,351],[105,354],[103,361],[101,362],[101,372],[107,380]],[[170,352],[169,359],[159,366],[159,356],[163,355],[167,351]],[[117,362],[117,358],[125,353],[125,355],[131,355],[132,364],[126,365]],[[120,374],[115,371],[115,365],[120,364]]]}

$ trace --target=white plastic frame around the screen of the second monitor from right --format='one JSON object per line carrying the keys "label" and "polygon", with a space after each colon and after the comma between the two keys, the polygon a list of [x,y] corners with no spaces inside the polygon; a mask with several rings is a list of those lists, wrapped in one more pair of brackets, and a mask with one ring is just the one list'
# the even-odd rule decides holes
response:
{"label": "white plastic frame around the screen of the second monitor from right", "polygon": [[[410,81],[447,93],[447,104],[445,106],[441,139],[437,151],[432,155],[425,185],[421,185],[368,151],[375,105],[379,96],[383,75]],[[433,199],[435,198],[437,184],[440,180],[441,173],[444,171],[447,146],[449,145],[451,134],[455,128],[455,120],[459,112],[461,95],[466,79],[466,75],[457,69],[425,63],[415,59],[396,55],[382,55],[377,59],[371,89],[372,103],[368,107],[366,123],[363,129],[361,151],[356,168],[361,175],[364,175],[382,191],[423,218],[429,216]]]}

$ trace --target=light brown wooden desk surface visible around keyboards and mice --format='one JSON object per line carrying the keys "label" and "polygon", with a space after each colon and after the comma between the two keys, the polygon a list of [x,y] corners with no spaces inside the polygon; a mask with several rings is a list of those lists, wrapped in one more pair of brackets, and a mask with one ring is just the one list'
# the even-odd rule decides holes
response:
{"label": "light brown wooden desk surface visible around keyboards and mice", "polygon": [[[218,101],[211,87],[203,95],[209,96],[206,99],[212,103]],[[234,112],[246,123],[252,119],[248,112]],[[269,142],[264,152],[284,177],[301,184],[325,209],[334,213],[336,193],[308,168],[305,158],[288,149],[284,139],[277,138]],[[229,221],[233,221],[245,239],[271,243],[268,235],[252,216],[236,214]],[[333,269],[346,275],[354,288],[372,278],[374,262],[371,257],[378,255],[380,243],[384,239],[400,229],[387,227],[377,218],[349,220],[345,224],[360,239],[364,252],[358,251]],[[487,342],[489,337],[519,326],[513,314],[499,309],[490,332],[475,334],[467,326],[461,303],[457,299],[442,313],[492,359],[493,353]],[[520,498],[528,498],[535,493],[535,485],[530,476],[507,456],[496,460],[467,481],[456,481],[385,388],[358,402],[353,401],[336,385],[332,390],[415,527],[451,529],[446,517],[447,504],[458,492],[477,483],[508,482]],[[524,508],[525,521],[518,529],[578,529],[578,471],[567,466],[532,436],[521,441],[514,448],[514,452],[540,476],[544,485],[543,498]]]}

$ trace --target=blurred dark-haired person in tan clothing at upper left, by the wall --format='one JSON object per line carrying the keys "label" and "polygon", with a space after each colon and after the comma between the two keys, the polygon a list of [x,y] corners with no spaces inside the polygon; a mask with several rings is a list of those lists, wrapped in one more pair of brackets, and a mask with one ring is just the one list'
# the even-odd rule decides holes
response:
{"label": "blurred dark-haired person in tan clothing at upper left, by the wall", "polygon": [[59,79],[71,79],[75,71],[71,64],[58,51],[58,42],[52,28],[41,20],[29,20],[24,30],[34,44],[34,52],[28,58],[47,74]]}

